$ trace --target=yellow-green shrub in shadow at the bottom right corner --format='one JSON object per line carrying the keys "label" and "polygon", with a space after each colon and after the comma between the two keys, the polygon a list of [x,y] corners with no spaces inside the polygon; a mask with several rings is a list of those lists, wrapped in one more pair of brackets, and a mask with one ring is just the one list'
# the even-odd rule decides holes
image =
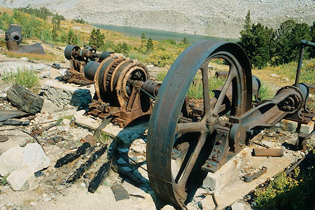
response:
{"label": "yellow-green shrub in shadow at the bottom right corner", "polygon": [[264,188],[256,188],[255,209],[313,209],[315,197],[315,151],[310,151],[293,176],[283,172]]}

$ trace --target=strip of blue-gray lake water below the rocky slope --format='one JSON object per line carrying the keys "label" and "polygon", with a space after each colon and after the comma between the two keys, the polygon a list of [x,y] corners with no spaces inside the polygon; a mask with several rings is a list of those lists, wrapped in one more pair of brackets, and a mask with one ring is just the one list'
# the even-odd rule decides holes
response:
{"label": "strip of blue-gray lake water below the rocky slope", "polygon": [[[134,27],[120,27],[115,25],[101,25],[101,24],[92,24],[101,29],[105,29],[108,31],[118,31],[125,36],[134,36],[137,38],[141,38],[141,35],[146,34],[146,38],[151,37],[153,40],[163,40],[163,39],[173,39],[174,41],[182,41],[184,37],[188,38],[190,43],[195,43],[196,41],[200,41],[203,39],[213,39],[218,41],[228,41],[227,38],[219,38],[214,36],[202,36],[197,34],[181,34],[171,31],[161,31],[155,29],[142,29],[142,28],[134,28]],[[236,41],[236,39],[230,38],[229,41]]]}

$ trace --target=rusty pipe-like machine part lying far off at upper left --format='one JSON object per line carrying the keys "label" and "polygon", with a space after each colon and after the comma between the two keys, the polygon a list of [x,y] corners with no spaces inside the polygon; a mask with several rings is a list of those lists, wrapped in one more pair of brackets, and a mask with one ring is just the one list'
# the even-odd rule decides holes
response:
{"label": "rusty pipe-like machine part lying far off at upper left", "polygon": [[22,42],[22,27],[20,25],[11,24],[6,31],[6,45],[8,50],[20,53],[45,54],[45,50],[40,43],[19,47]]}

